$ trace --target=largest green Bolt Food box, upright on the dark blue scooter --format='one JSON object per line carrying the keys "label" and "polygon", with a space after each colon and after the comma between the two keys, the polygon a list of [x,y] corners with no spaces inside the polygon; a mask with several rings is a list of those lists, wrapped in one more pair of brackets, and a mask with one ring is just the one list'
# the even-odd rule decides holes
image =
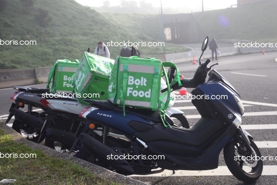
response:
{"label": "largest green Bolt Food box, upright on the dark blue scooter", "polygon": [[[111,72],[108,100],[123,107],[157,110],[162,106],[160,88],[164,72],[161,60],[155,58],[117,57]],[[169,98],[164,105],[168,106],[168,101]]]}

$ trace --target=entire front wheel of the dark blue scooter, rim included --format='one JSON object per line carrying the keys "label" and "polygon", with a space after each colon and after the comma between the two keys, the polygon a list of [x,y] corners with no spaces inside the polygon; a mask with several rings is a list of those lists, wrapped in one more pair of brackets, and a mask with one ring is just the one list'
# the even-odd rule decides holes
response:
{"label": "entire front wheel of the dark blue scooter, rim included", "polygon": [[224,159],[230,172],[239,180],[251,183],[260,178],[263,172],[261,153],[256,144],[250,140],[254,155],[247,154],[243,141],[235,140],[225,145]]}

